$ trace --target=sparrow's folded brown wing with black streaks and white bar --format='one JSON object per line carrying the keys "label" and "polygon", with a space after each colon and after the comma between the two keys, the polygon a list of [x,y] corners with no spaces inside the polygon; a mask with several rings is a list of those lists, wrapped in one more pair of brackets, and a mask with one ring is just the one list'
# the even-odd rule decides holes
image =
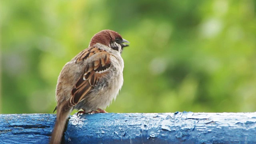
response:
{"label": "sparrow's folded brown wing with black streaks and white bar", "polygon": [[[89,57],[90,60],[88,59]],[[110,68],[110,54],[98,48],[84,51],[78,56],[76,63],[85,61],[84,72],[76,82],[70,98],[71,106],[75,106],[90,92],[98,80],[108,73]],[[88,61],[88,62],[86,62]]]}

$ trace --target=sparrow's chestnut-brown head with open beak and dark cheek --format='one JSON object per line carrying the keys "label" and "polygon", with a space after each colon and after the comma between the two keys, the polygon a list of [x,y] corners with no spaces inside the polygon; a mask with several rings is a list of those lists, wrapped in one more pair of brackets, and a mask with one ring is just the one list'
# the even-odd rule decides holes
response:
{"label": "sparrow's chestnut-brown head with open beak and dark cheek", "polygon": [[122,53],[123,48],[129,46],[128,44],[124,43],[130,42],[122,38],[120,34],[113,30],[102,30],[92,37],[89,46],[93,46],[97,43],[104,44],[106,46],[109,46],[113,50],[117,50]]}

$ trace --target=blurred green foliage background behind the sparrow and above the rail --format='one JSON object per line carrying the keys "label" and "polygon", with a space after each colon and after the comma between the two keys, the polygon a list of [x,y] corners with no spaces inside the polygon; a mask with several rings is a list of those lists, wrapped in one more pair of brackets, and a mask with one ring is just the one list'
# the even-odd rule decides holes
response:
{"label": "blurred green foliage background behind the sparrow and above the rail", "polygon": [[256,111],[255,0],[1,0],[0,113],[52,113],[62,66],[104,29],[130,41],[106,111]]}

